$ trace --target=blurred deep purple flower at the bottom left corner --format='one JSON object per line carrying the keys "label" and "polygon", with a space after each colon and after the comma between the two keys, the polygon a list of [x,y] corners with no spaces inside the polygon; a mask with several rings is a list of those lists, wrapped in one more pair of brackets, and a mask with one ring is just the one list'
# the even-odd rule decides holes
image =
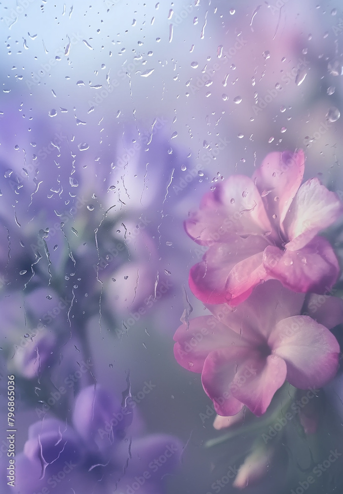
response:
{"label": "blurred deep purple flower at the bottom left corner", "polygon": [[23,453],[16,457],[16,485],[22,494],[74,488],[84,494],[138,483],[142,492],[161,492],[163,477],[177,466],[182,445],[172,436],[127,439],[132,409],[122,408],[101,386],[76,397],[72,424],[48,418],[29,428]]}

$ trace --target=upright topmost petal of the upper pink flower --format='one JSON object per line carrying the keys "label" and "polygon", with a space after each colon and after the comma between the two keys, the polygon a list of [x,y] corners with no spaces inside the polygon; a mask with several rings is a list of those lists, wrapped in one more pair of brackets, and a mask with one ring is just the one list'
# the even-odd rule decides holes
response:
{"label": "upright topmost petal of the upper pink flower", "polygon": [[273,226],[281,225],[303,180],[304,152],[269,153],[252,179],[259,189],[269,218],[275,215]]}

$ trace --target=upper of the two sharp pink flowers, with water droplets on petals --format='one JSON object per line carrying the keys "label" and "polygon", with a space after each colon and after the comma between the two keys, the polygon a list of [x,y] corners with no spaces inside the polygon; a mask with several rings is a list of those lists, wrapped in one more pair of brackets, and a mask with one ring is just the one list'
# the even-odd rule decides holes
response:
{"label": "upper of the two sharp pink flowers, with water droplets on petals", "polygon": [[301,182],[304,153],[270,153],[252,178],[230,176],[206,194],[185,223],[209,249],[191,268],[190,287],[204,303],[245,300],[262,280],[297,292],[323,293],[339,275],[328,241],[317,234],[343,204],[317,178]]}

